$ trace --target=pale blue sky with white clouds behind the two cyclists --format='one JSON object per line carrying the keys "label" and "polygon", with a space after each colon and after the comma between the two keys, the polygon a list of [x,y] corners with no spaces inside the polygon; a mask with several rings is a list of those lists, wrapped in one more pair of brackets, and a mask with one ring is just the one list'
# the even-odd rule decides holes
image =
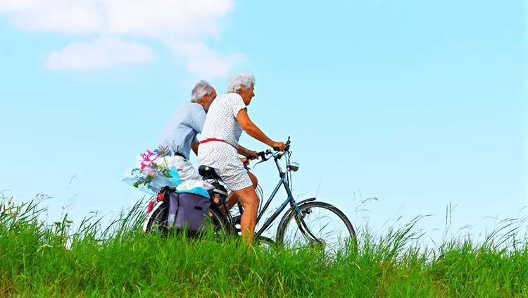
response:
{"label": "pale blue sky with white clouds behind the two cyclists", "polygon": [[[300,198],[379,230],[432,214],[420,226],[433,238],[450,204],[453,230],[474,235],[527,214],[524,1],[11,2],[0,0],[0,192],[44,194],[49,218],[65,202],[80,222],[141,199],[118,178],[193,85],[224,94],[246,70],[250,118],[291,137]],[[275,166],[253,173],[270,194]]]}

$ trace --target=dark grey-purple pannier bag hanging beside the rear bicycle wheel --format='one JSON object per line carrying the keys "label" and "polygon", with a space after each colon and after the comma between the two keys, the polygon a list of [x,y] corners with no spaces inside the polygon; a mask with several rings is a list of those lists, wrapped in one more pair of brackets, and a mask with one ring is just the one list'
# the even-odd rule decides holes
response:
{"label": "dark grey-purple pannier bag hanging beside the rear bicycle wheel", "polygon": [[210,207],[208,198],[191,192],[177,192],[176,187],[164,188],[163,197],[169,199],[169,227],[189,231],[199,231],[205,227]]}

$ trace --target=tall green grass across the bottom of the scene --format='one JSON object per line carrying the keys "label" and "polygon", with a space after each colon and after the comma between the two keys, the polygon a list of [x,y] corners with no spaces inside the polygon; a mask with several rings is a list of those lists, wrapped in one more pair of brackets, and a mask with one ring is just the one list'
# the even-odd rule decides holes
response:
{"label": "tall green grass across the bottom of the scene", "polygon": [[37,204],[0,200],[0,297],[528,297],[523,221],[482,243],[444,237],[420,246],[420,218],[384,235],[358,231],[358,250],[326,259],[310,249],[238,240],[142,235],[137,204],[105,230],[39,221]]}

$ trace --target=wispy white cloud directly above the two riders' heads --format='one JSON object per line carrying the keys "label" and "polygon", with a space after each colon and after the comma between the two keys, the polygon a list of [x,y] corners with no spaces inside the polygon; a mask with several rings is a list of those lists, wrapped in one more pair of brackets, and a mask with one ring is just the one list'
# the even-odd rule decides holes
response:
{"label": "wispy white cloud directly above the two riders' heads", "polygon": [[168,45],[185,58],[189,73],[208,80],[230,75],[232,68],[248,60],[244,54],[221,54],[203,43],[168,42]]}

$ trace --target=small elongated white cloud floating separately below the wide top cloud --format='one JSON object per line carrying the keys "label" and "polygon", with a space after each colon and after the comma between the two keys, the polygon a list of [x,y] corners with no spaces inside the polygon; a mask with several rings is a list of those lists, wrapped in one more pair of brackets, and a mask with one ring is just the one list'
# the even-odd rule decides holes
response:
{"label": "small elongated white cloud floating separately below the wide top cloud", "polygon": [[123,63],[152,61],[157,52],[150,46],[115,37],[103,37],[92,44],[73,42],[62,51],[53,52],[44,65],[51,70],[94,70]]}

